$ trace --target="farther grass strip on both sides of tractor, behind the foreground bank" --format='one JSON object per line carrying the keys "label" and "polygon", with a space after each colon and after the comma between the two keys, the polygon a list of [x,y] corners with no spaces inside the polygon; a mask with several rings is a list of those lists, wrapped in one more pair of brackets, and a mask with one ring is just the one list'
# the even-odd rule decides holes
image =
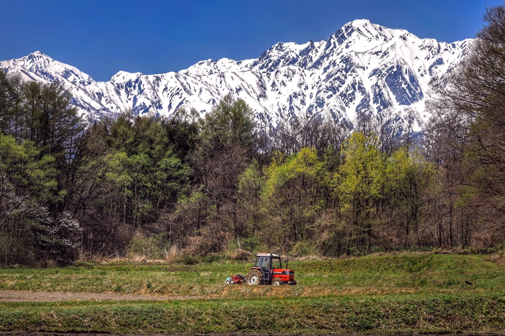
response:
{"label": "farther grass strip on both sides of tractor, behind the foreground bank", "polygon": [[[248,263],[95,265],[46,270],[0,270],[0,290],[256,297],[246,286],[224,286]],[[290,262],[298,286],[284,296],[354,293],[490,293],[505,288],[504,268],[487,255],[413,254]],[[472,283],[467,284],[465,281]],[[268,291],[267,291],[268,292]]]}

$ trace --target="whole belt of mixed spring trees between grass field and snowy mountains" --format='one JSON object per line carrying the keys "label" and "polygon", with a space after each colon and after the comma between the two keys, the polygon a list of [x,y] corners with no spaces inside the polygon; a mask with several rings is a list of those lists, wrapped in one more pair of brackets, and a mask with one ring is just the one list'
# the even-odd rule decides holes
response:
{"label": "whole belt of mixed spring trees between grass field and snowy mountains", "polygon": [[392,109],[274,127],[232,94],[89,122],[61,83],[0,71],[0,264],[505,243],[505,7],[484,21],[421,135]]}

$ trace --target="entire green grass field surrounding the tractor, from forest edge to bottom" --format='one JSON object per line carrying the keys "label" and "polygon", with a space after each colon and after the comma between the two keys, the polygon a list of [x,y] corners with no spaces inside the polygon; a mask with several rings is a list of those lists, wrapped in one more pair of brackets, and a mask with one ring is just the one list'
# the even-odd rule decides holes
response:
{"label": "entire green grass field surrounding the tractor, from forest edge to bottom", "polygon": [[[224,284],[249,266],[218,260],[4,268],[0,290],[129,294],[139,301],[3,302],[0,330],[505,333],[505,266],[489,255],[292,261],[297,286]],[[144,294],[183,299],[142,301]]]}

